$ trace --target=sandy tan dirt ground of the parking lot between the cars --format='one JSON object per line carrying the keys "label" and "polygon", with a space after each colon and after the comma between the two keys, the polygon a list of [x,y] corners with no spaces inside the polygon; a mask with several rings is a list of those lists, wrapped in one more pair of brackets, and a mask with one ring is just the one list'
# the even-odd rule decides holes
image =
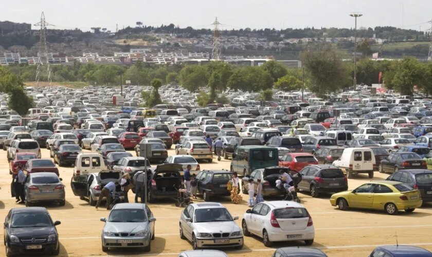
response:
{"label": "sandy tan dirt ground of the parking lot between the cars", "polygon": [[[173,150],[169,151],[174,154]],[[135,153],[133,153],[135,155]],[[42,157],[49,158],[49,152],[42,149]],[[201,169],[229,169],[229,160],[213,159],[213,163],[202,162]],[[7,215],[11,208],[22,205],[15,204],[10,197],[9,167],[6,152],[0,150],[0,217]],[[178,219],[181,207],[175,207],[174,201],[165,200],[150,205],[157,219],[156,238],[152,241],[152,251],[149,253],[121,249],[109,253],[102,252],[101,231],[104,223],[101,217],[106,217],[109,211],[96,210],[87,201],[80,200],[70,189],[70,179],[73,168],[59,168],[60,177],[66,187],[66,205],[42,205],[46,207],[54,221],[61,221],[58,231],[60,235],[60,256],[177,256],[183,250],[191,250],[189,242],[181,240],[178,235]],[[373,180],[386,178],[388,175],[375,172]],[[350,189],[369,181],[367,175],[359,175],[348,181]],[[413,213],[400,212],[397,216],[390,216],[381,211],[349,210],[339,211],[329,202],[330,195],[312,198],[307,193],[300,193],[302,204],[308,209],[315,226],[315,243],[317,247],[329,256],[368,256],[377,245],[409,244],[432,250],[430,229],[432,227],[432,204],[416,209]],[[133,199],[132,192],[129,199]],[[243,202],[238,205],[231,203],[229,197],[214,198],[223,203],[232,215],[239,215],[239,226],[242,214],[248,209],[247,195],[243,195]],[[201,199],[195,200],[202,201]],[[3,233],[3,230],[2,232]],[[2,234],[3,236],[3,234]],[[285,246],[304,246],[303,242],[278,243],[272,248],[264,247],[260,238],[245,237],[242,250],[223,249],[229,256],[272,256],[276,248]],[[5,255],[5,249],[0,249],[0,255]]]}

